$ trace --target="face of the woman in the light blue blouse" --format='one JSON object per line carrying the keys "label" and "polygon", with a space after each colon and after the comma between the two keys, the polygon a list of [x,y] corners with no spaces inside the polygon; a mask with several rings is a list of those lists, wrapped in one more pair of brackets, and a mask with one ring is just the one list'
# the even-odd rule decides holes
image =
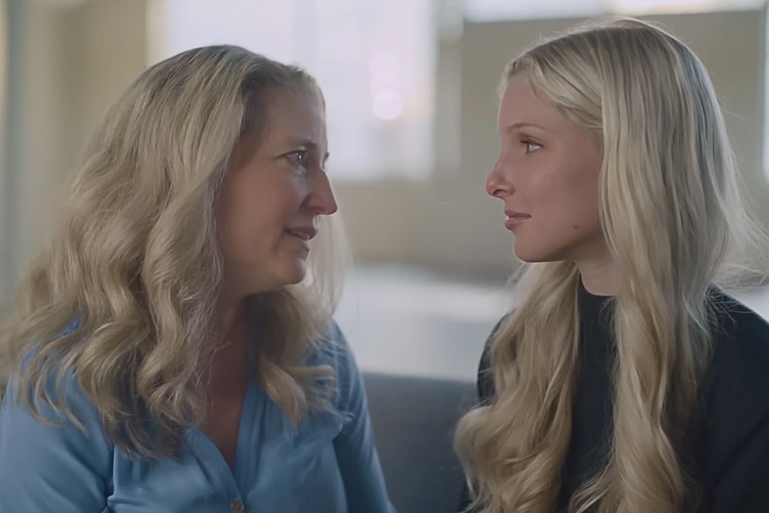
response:
{"label": "face of the woman in the light blue blouse", "polygon": [[273,91],[265,105],[266,131],[238,143],[219,196],[225,291],[235,297],[302,281],[318,217],[337,210],[319,98]]}

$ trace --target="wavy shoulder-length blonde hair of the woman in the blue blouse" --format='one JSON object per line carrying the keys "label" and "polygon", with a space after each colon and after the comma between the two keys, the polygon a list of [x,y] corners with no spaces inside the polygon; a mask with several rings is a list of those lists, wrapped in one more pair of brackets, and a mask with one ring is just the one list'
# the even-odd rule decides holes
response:
{"label": "wavy shoulder-length blonde hair of the woman in the blue blouse", "polygon": [[[72,371],[128,456],[175,455],[202,421],[201,375],[221,341],[215,205],[235,145],[268,129],[268,89],[322,103],[301,68],[223,45],[148,68],[108,111],[2,330],[2,388],[12,378],[39,421],[41,399],[82,428],[62,390]],[[333,220],[322,222],[305,282],[246,305],[261,386],[293,422],[334,387],[331,368],[303,365],[328,331],[346,256]]]}

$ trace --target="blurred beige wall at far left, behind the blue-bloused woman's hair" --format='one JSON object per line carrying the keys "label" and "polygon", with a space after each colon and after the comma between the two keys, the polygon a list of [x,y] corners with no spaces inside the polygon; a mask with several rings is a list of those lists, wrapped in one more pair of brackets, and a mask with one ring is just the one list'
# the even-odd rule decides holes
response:
{"label": "blurred beige wall at far left, behind the blue-bloused woman's hair", "polygon": [[[50,235],[87,135],[145,66],[145,3],[8,1],[8,146],[0,301]],[[66,3],[66,2],[65,2]]]}

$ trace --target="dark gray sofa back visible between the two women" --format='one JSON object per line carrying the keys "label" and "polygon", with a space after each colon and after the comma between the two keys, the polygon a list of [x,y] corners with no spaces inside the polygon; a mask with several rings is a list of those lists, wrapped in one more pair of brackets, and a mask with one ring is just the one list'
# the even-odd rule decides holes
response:
{"label": "dark gray sofa back visible between the two women", "polygon": [[462,472],[451,437],[475,385],[365,374],[384,478],[399,513],[455,513]]}

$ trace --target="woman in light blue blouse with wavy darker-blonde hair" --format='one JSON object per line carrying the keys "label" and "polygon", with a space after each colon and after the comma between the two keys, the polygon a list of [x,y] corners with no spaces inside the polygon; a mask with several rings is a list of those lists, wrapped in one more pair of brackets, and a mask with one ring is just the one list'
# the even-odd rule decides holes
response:
{"label": "woman in light blue blouse with wavy darker-blonde hair", "polygon": [[327,147],[315,81],[242,48],[128,88],[2,333],[0,511],[394,511],[308,260]]}

